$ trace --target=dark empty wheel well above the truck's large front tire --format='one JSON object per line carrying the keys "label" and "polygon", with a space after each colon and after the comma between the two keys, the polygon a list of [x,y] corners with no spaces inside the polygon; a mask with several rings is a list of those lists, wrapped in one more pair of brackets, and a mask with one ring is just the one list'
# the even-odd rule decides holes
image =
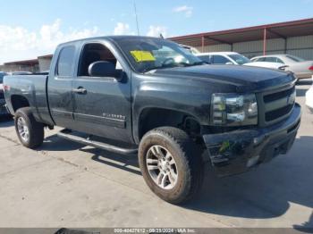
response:
{"label": "dark empty wheel well above the truck's large front tire", "polygon": [[199,121],[190,114],[161,108],[148,108],[140,114],[139,138],[141,139],[149,130],[163,126],[185,130],[193,138],[200,134]]}

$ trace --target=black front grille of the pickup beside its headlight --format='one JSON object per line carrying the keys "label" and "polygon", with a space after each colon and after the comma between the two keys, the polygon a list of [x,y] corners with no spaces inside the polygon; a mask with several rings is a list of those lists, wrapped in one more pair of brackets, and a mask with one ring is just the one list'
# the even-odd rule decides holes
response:
{"label": "black front grille of the pickup beside its headlight", "polygon": [[295,96],[294,86],[261,94],[261,98],[258,99],[262,110],[259,116],[260,124],[270,125],[287,117],[292,113]]}

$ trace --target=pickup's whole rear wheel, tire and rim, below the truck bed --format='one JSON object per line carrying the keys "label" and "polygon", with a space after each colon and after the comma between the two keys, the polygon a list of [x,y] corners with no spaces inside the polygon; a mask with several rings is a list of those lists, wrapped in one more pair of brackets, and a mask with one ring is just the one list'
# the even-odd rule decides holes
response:
{"label": "pickup's whole rear wheel, tire and rim, below the truck bed", "polygon": [[21,144],[28,148],[41,146],[44,140],[44,125],[35,120],[30,107],[16,111],[14,117],[15,130]]}

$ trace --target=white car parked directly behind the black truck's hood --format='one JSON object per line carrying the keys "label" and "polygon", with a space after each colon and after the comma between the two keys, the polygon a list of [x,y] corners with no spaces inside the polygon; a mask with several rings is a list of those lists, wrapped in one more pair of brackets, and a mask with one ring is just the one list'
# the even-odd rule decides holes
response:
{"label": "white car parked directly behind the black truck's hood", "polygon": [[253,63],[250,61],[249,58],[236,52],[209,52],[209,53],[199,53],[195,55],[198,56],[202,61],[211,64],[227,64],[227,65],[234,64],[281,70],[284,70],[286,68],[286,65],[283,63],[265,63],[265,62]]}

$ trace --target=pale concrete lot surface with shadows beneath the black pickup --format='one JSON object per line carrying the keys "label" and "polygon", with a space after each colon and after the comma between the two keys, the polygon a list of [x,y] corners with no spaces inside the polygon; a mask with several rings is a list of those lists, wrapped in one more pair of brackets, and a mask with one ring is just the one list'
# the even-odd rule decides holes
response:
{"label": "pale concrete lot surface with shadows beneath the black pickup", "polygon": [[[304,107],[311,80],[297,86]],[[0,122],[0,227],[313,227],[313,115],[303,108],[288,155],[245,174],[207,172],[199,197],[169,205],[140,175],[136,156],[80,146],[46,131],[37,151]]]}

